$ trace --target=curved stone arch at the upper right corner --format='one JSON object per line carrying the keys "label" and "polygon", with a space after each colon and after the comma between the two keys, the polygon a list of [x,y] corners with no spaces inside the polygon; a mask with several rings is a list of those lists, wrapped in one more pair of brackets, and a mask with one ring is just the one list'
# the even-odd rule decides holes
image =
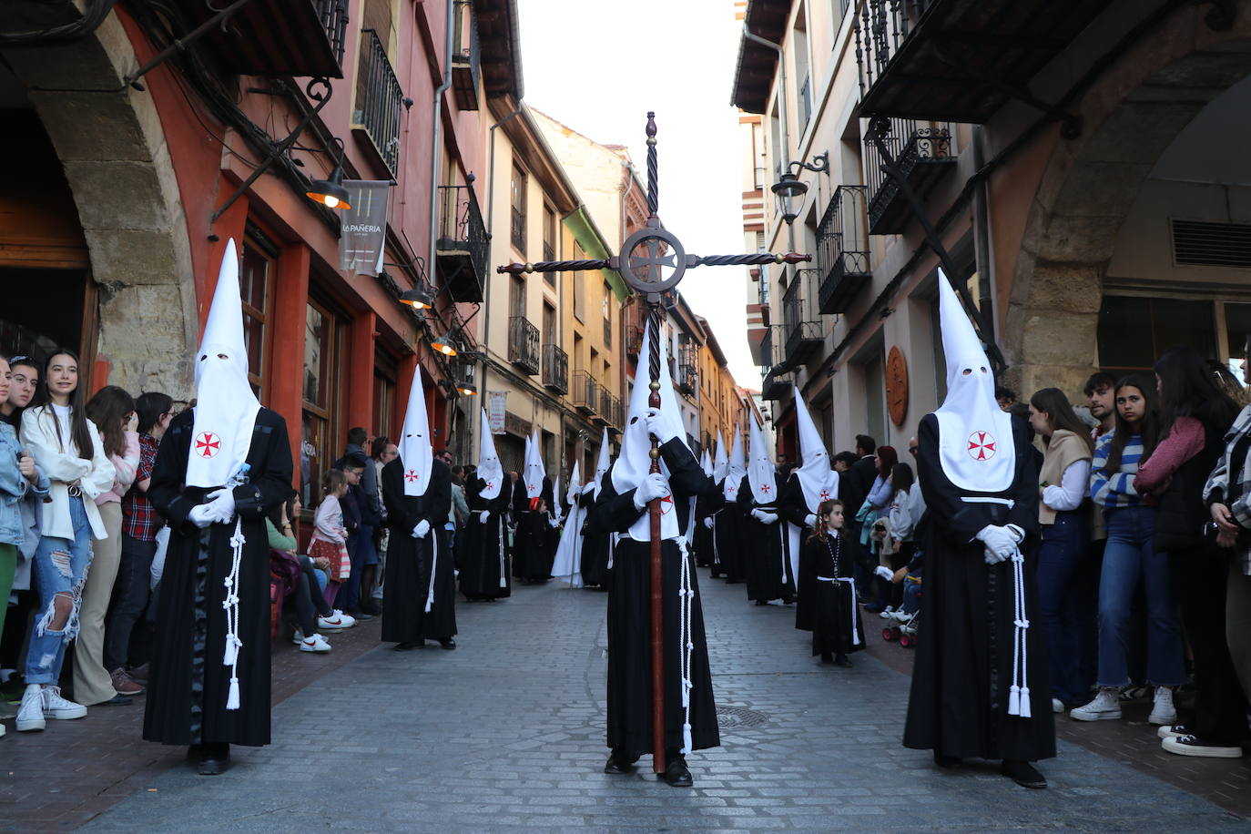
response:
{"label": "curved stone arch at the upper right corner", "polygon": [[1103,279],[1117,234],[1160,155],[1213,99],[1251,75],[1251,1],[1213,31],[1178,11],[1081,101],[1086,126],[1058,140],[1033,196],[1003,329],[1022,391],[1081,391],[1098,355]]}

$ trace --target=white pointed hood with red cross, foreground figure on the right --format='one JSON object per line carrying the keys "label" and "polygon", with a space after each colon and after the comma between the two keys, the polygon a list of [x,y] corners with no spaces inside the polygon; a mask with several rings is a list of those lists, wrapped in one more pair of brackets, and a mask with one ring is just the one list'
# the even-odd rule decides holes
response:
{"label": "white pointed hood with red cross, foreground figure on the right", "polygon": [[938,419],[938,460],[960,489],[1001,493],[1012,485],[1012,416],[995,401],[995,375],[968,314],[938,270],[938,319],[947,358],[947,398]]}

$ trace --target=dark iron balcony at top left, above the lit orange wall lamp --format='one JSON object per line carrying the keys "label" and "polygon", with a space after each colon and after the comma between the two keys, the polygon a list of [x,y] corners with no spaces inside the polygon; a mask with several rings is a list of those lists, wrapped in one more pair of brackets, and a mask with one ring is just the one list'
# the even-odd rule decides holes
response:
{"label": "dark iron balcony at top left, above the lit orange wall lamp", "polygon": [[[185,38],[216,14],[203,0],[174,0]],[[348,0],[253,0],[225,26],[214,25],[200,44],[216,68],[240,75],[343,78]]]}

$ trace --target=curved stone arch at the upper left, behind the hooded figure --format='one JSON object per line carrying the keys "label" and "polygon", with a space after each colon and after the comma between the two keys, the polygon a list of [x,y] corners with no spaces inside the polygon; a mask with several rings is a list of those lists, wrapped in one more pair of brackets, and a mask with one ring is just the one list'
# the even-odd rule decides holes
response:
{"label": "curved stone arch at the upper left, behind the hooded figure", "polygon": [[151,95],[111,91],[140,65],[125,29],[110,14],[83,40],[5,59],[65,168],[99,289],[95,349],[109,383],[189,399],[199,316],[186,219]]}

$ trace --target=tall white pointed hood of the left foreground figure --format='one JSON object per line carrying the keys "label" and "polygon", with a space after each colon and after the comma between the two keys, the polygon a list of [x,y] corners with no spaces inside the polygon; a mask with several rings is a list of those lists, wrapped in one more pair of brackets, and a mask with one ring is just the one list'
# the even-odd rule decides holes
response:
{"label": "tall white pointed hood of the left foreground figure", "polygon": [[239,254],[226,241],[204,338],[195,354],[195,419],[186,458],[188,486],[221,486],[248,460],[260,401],[248,381]]}

